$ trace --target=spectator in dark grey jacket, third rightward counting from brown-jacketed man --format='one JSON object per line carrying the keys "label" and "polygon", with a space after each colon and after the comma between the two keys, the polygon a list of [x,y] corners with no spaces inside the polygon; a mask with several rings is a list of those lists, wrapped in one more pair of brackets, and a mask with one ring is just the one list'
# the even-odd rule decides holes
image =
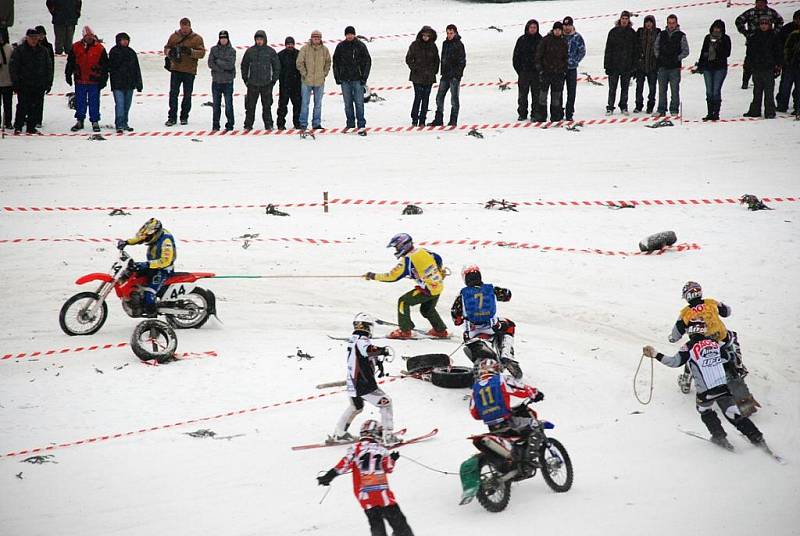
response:
{"label": "spectator in dark grey jacket, third rightward counting from brown-jacketed man", "polygon": [[281,76],[281,62],[275,49],[267,44],[267,32],[258,30],[253,39],[255,44],[245,51],[242,58],[242,80],[247,86],[244,129],[252,130],[260,98],[264,128],[272,130],[272,88]]}

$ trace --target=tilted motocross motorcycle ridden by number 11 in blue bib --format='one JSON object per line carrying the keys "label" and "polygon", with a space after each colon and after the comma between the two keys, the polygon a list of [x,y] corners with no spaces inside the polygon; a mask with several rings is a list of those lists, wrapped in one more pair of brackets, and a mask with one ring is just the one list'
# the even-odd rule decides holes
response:
{"label": "tilted motocross motorcycle ridden by number 11 in blue bib", "polygon": [[534,418],[529,436],[487,432],[469,437],[479,453],[461,464],[460,504],[468,504],[477,497],[488,511],[501,512],[511,500],[511,483],[533,478],[537,471],[541,471],[544,481],[557,493],[572,487],[572,460],[560,441],[547,437],[545,430],[555,426],[539,421],[531,402],[529,398],[512,410],[515,416]]}

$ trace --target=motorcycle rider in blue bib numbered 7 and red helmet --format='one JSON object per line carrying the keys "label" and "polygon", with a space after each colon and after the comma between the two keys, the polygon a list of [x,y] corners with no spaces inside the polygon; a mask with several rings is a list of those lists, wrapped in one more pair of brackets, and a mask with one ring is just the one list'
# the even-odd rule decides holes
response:
{"label": "motorcycle rider in blue bib numbered 7 and red helmet", "polygon": [[[511,300],[511,291],[484,283],[480,268],[471,264],[461,270],[461,279],[466,285],[461,289],[453,306],[450,316],[456,326],[464,324],[464,341],[473,339],[494,339],[499,344],[500,362],[516,379],[522,378],[522,369],[514,360],[514,330],[515,324],[508,318],[497,316],[497,302]],[[472,348],[467,345],[464,349],[473,363],[479,361],[480,356],[473,355]]]}

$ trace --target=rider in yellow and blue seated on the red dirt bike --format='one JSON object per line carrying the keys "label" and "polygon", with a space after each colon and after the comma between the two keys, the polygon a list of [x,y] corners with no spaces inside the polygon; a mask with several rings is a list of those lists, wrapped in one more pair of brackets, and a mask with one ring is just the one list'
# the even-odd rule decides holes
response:
{"label": "rider in yellow and blue seated on the red dirt bike", "polygon": [[166,280],[174,271],[177,252],[175,238],[164,229],[156,218],[150,218],[136,232],[136,236],[127,240],[118,240],[117,248],[122,251],[125,246],[147,244],[147,261],[134,264],[134,271],[147,277],[144,291],[143,316],[156,316],[156,296]]}

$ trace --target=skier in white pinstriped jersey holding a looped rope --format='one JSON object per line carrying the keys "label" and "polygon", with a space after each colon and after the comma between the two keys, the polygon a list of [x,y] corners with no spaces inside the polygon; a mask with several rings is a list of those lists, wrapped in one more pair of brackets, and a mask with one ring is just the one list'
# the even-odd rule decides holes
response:
{"label": "skier in white pinstriped jersey holding a looped rope", "polygon": [[712,337],[712,330],[702,318],[695,318],[686,324],[689,342],[681,346],[677,354],[668,356],[657,352],[652,346],[645,346],[642,353],[658,359],[668,367],[688,364],[697,386],[697,412],[711,434],[711,442],[732,450],[725,430],[717,414],[712,409],[716,402],[725,418],[756,446],[763,447],[764,436],[749,418],[742,415],[733,400],[726,381],[723,364],[728,360],[721,351],[720,344]]}

